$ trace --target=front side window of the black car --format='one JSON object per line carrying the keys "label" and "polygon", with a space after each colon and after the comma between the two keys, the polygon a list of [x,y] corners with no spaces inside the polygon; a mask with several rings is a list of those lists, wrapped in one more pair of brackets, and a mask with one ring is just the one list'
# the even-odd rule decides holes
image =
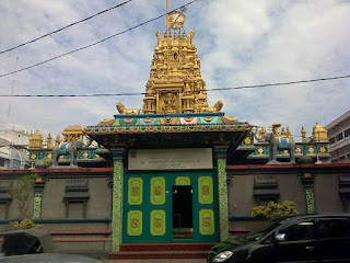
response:
{"label": "front side window of the black car", "polygon": [[314,238],[314,222],[302,221],[279,231],[284,233],[284,241],[308,240]]}

